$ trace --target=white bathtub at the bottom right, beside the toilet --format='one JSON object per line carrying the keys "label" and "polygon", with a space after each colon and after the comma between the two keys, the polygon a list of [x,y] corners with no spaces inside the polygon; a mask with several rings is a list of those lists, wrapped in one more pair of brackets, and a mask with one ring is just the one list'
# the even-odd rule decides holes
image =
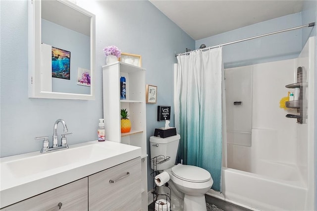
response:
{"label": "white bathtub at the bottom right, beside the toilet", "polygon": [[297,169],[286,164],[283,164],[284,167],[278,164],[273,163],[271,167],[279,172],[285,172],[284,179],[278,173],[275,175],[279,177],[274,178],[273,175],[260,175],[223,167],[222,194],[212,189],[207,194],[255,211],[309,210],[306,207],[308,190],[301,181],[300,174],[296,172]]}

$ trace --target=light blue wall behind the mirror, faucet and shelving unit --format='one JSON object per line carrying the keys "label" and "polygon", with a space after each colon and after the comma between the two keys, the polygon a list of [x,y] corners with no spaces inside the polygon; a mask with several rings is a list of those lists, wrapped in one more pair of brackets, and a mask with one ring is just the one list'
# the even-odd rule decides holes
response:
{"label": "light blue wall behind the mirror, faucet and shelving unit", "polygon": [[[97,139],[98,119],[103,117],[103,48],[109,45],[142,55],[146,83],[158,86],[157,104],[147,105],[148,140],[155,128],[164,126],[157,121],[157,106],[172,106],[173,116],[174,54],[186,47],[194,49],[195,41],[148,0],[77,0],[77,4],[96,14],[95,101],[28,98],[27,0],[0,1],[0,157],[40,151],[42,143],[34,137],[47,135],[52,140],[53,123],[58,118],[64,119],[73,133],[67,138],[68,144]],[[174,125],[173,119],[170,125]],[[149,176],[148,180],[151,189],[153,179]]]}

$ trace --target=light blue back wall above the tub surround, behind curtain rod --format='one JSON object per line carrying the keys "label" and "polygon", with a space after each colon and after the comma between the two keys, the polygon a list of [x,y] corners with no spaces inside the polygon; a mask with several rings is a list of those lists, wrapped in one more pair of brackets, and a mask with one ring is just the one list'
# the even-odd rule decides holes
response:
{"label": "light blue back wall above the tub surround, behind curtain rod", "polygon": [[[302,25],[301,13],[282,16],[196,41],[207,47]],[[304,29],[305,30],[305,29]],[[307,30],[307,29],[306,29]],[[309,29],[311,30],[311,29]],[[224,67],[295,58],[302,50],[302,30],[294,30],[223,47]]]}

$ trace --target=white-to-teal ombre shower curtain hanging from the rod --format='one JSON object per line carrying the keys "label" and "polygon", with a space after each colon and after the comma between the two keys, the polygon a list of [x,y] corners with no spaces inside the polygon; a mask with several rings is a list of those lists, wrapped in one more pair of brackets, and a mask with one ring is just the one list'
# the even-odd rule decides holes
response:
{"label": "white-to-teal ombre shower curtain hanging from the rod", "polygon": [[175,126],[181,136],[178,158],[208,170],[212,189],[221,191],[222,49],[177,56]]}

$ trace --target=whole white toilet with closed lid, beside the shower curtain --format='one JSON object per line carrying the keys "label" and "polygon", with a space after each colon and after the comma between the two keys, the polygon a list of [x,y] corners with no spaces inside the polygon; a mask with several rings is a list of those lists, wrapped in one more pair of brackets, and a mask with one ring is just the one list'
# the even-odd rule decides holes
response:
{"label": "whole white toilet with closed lid, beside the shower curtain", "polygon": [[[171,197],[181,198],[176,201],[183,202],[181,207],[184,211],[207,211],[205,194],[210,190],[213,183],[211,174],[201,167],[180,163],[175,165],[179,140],[179,134],[167,138],[151,136],[151,158],[157,156],[170,157],[169,160],[157,166],[154,166],[151,162],[151,168],[155,169],[156,167],[155,170],[166,171],[169,174],[170,181],[168,183],[172,189]],[[173,205],[174,201],[171,200],[172,208],[175,207]]]}

